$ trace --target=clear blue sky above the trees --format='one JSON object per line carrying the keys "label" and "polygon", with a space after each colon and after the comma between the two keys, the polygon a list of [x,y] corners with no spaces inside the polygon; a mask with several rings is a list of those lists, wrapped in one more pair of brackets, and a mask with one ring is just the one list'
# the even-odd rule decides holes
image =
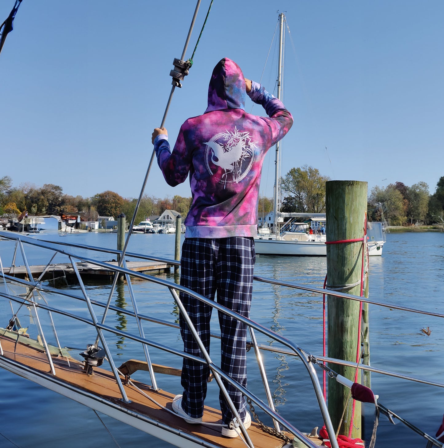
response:
{"label": "clear blue sky above the trees", "polygon": [[[202,1],[186,57],[209,2]],[[1,0],[0,22],[13,4]],[[138,197],[195,4],[23,0],[0,55],[0,177],[83,197],[104,190]],[[172,99],[170,140],[207,107],[208,81],[222,57],[259,81],[278,9],[292,38],[284,103],[295,119],[282,174],[308,164],[332,179],[367,181],[369,192],[425,181],[433,193],[444,176],[441,0],[215,0],[190,75]],[[274,43],[262,82],[274,90]],[[253,113],[263,111],[255,106]],[[265,196],[274,183],[269,154]],[[188,180],[169,187],[155,164],[145,192],[189,196],[190,187]]]}

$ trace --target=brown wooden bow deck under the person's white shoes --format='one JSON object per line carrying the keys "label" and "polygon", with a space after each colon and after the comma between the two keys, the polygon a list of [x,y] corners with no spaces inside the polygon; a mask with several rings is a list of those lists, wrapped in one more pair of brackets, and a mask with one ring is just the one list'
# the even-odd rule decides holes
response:
{"label": "brown wooden bow deck under the person's white shoes", "polygon": [[[31,340],[25,336],[18,336],[16,333],[1,329],[0,343],[3,349],[3,356],[13,361],[19,362],[32,370],[38,371],[40,374],[46,375],[48,378],[54,378],[51,374],[47,355],[43,351],[43,346],[35,340]],[[116,380],[111,371],[100,367],[94,368],[94,374],[91,376],[83,372],[83,362],[71,358],[69,354],[62,351],[60,355],[59,349],[52,347],[52,361],[56,370],[56,378],[63,383],[74,386],[89,392],[94,396],[101,397],[105,401],[114,403],[129,411],[146,416],[163,423],[178,431],[194,435],[203,441],[209,442],[224,448],[245,448],[244,442],[240,438],[229,439],[221,435],[219,427],[211,427],[204,425],[191,425],[186,423],[182,418],[170,414],[155,403],[143,396],[140,391],[132,385],[125,385],[125,392],[130,403],[121,401],[121,393],[117,386]],[[124,378],[121,377],[122,381]],[[159,404],[172,409],[172,399],[174,395],[162,390],[153,391],[149,386],[132,380],[138,388],[151,396]],[[205,406],[204,422],[221,422],[220,410]],[[264,433],[257,423],[252,422],[248,430],[248,434],[255,447],[258,448],[282,448],[285,442],[272,435]],[[287,433],[290,437],[290,434]],[[314,443],[321,444],[321,440],[310,438]]]}

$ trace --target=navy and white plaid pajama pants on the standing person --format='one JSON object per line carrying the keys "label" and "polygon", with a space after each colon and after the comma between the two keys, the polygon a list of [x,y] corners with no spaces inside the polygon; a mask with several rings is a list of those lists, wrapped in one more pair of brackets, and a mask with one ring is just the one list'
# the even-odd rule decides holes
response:
{"label": "navy and white plaid pajama pants on the standing person", "polygon": [[[250,237],[185,238],[181,257],[181,285],[214,300],[229,310],[250,317],[253,291],[253,268],[256,255],[254,240]],[[212,307],[189,294],[180,293],[185,306],[207,352],[210,351],[210,319]],[[243,323],[218,312],[221,332],[221,369],[242,386],[247,385],[246,332]],[[185,353],[203,358],[193,335],[182,315],[179,317]],[[203,364],[184,359],[181,384],[184,388],[182,407],[193,418],[202,417],[203,402],[207,395],[210,369]],[[240,417],[246,415],[242,394],[224,381]],[[219,394],[222,422],[228,424],[233,414]]]}

